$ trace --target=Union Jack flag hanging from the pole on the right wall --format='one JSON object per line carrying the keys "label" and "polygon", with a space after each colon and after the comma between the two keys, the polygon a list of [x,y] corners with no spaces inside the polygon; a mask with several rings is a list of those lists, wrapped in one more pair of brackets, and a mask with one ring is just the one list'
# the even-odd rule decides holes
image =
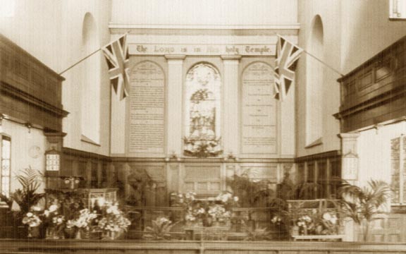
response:
{"label": "Union Jack flag hanging from the pole on the right wall", "polygon": [[288,42],[278,35],[276,44],[276,61],[275,61],[275,83],[273,86],[273,97],[275,99],[285,99],[288,94],[290,85],[295,79],[297,61],[303,49]]}

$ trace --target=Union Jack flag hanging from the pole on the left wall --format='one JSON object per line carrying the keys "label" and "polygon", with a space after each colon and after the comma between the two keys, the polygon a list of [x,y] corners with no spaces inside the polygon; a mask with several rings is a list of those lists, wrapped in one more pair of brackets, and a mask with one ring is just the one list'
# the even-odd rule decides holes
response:
{"label": "Union Jack flag hanging from the pole on the left wall", "polygon": [[109,66],[110,83],[120,100],[128,96],[128,84],[130,81],[128,75],[130,56],[126,42],[127,34],[101,48]]}

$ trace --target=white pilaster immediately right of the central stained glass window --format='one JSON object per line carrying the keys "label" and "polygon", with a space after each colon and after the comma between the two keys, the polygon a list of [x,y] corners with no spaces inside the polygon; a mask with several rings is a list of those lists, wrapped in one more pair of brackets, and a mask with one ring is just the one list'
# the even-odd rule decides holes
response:
{"label": "white pilaster immediately right of the central stained glass window", "polygon": [[239,105],[238,105],[238,63],[241,56],[221,56],[224,64],[223,80],[223,150],[238,156],[239,147]]}

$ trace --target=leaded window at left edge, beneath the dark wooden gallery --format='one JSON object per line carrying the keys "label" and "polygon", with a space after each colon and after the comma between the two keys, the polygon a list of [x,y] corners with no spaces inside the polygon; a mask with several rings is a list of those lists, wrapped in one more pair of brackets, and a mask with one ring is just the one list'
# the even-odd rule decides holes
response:
{"label": "leaded window at left edge, beneath the dark wooden gallery", "polygon": [[1,136],[1,174],[0,184],[1,193],[7,197],[10,195],[10,157],[11,157],[11,138]]}

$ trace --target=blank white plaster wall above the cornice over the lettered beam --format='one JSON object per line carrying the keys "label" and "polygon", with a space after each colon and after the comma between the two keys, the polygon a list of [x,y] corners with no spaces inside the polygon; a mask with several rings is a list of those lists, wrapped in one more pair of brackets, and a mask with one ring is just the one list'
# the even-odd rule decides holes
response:
{"label": "blank white plaster wall above the cornice over the lettered beam", "polygon": [[113,0],[111,23],[273,25],[297,23],[296,0]]}

